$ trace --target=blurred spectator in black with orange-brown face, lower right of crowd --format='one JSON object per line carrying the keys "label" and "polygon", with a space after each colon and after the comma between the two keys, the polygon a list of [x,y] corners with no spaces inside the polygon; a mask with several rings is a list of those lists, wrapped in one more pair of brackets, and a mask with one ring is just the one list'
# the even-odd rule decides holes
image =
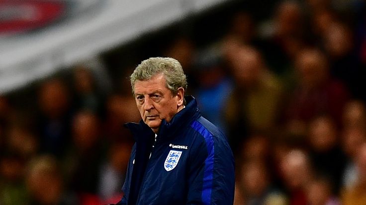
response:
{"label": "blurred spectator in black with orange-brown face, lower right of crowd", "polygon": [[339,146],[338,130],[329,116],[319,116],[309,124],[310,159],[314,171],[326,175],[333,182],[331,194],[339,194],[346,156]]}

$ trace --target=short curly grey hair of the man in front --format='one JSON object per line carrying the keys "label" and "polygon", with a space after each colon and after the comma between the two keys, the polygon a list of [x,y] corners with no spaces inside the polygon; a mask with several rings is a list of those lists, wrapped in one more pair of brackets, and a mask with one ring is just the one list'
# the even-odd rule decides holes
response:
{"label": "short curly grey hair of the man in front", "polygon": [[187,89],[187,79],[181,63],[171,57],[151,57],[143,60],[130,76],[132,93],[135,92],[136,80],[149,80],[154,75],[163,73],[167,88],[177,95],[179,88]]}

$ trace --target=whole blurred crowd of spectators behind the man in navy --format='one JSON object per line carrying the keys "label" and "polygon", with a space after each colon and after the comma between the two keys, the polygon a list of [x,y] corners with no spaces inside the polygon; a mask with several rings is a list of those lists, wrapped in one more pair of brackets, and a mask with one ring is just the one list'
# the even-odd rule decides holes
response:
{"label": "whole blurred crowd of spectators behind the man in navy", "polygon": [[[275,2],[260,20],[236,6],[207,44],[178,34],[149,54],[182,63],[187,95],[226,133],[235,205],[365,205],[366,1]],[[144,58],[122,59],[0,96],[0,205],[119,201]]]}

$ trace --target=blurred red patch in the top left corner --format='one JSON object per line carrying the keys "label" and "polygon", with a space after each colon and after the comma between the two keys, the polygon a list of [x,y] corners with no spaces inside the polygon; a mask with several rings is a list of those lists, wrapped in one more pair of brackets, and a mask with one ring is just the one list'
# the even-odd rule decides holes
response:
{"label": "blurred red patch in the top left corner", "polygon": [[62,0],[0,0],[0,35],[45,27],[66,13]]}

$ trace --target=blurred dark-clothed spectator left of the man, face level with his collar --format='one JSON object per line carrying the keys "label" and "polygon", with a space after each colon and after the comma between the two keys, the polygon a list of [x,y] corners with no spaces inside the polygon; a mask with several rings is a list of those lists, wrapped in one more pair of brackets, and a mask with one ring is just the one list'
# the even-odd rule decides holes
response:
{"label": "blurred dark-clothed spectator left of the man, face level with his collar", "polygon": [[105,143],[100,138],[97,116],[80,111],[73,119],[73,146],[65,155],[63,168],[69,179],[68,188],[84,200],[97,194],[99,167],[104,160]]}

